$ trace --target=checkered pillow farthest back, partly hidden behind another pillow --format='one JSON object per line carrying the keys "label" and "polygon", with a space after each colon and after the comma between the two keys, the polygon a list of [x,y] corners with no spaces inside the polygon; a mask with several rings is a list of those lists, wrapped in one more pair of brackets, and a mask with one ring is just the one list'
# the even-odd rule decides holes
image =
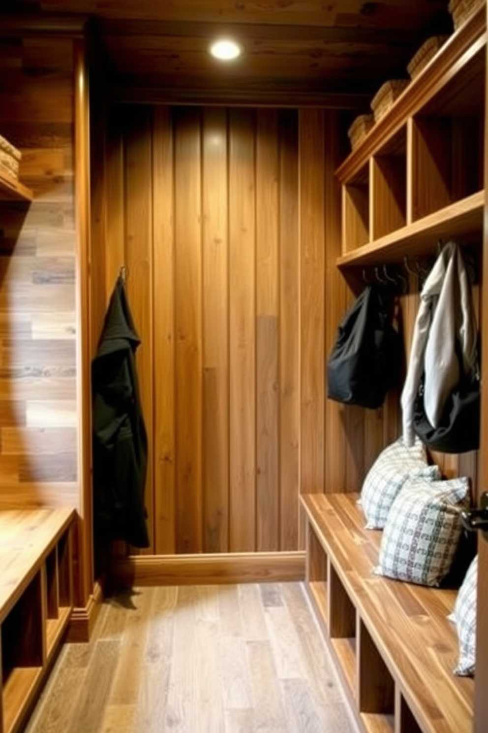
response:
{"label": "checkered pillow farthest back, partly hidden behind another pillow", "polygon": [[440,479],[438,467],[427,465],[425,448],[418,438],[410,448],[399,438],[380,453],[361,489],[367,529],[383,529],[399,491],[409,479],[417,478]]}

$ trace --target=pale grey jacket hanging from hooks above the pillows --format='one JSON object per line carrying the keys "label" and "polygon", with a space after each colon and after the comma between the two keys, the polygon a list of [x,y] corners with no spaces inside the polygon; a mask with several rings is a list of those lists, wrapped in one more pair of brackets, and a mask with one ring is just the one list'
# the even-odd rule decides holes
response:
{"label": "pale grey jacket hanging from hooks above the pillows", "polygon": [[[415,400],[424,373],[424,410],[439,427],[443,408],[460,378],[473,380],[478,369],[476,318],[468,272],[459,247],[441,251],[421,292],[410,363],[402,391],[403,438],[413,445]],[[462,369],[462,372],[461,372]]]}

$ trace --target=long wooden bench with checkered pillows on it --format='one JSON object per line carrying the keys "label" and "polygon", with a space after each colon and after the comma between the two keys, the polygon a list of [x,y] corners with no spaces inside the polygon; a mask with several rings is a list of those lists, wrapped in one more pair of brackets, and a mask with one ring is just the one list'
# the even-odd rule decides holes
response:
{"label": "long wooden bench with checkered pillows on it", "polygon": [[473,679],[456,677],[457,592],[372,573],[380,531],[364,529],[357,494],[301,496],[307,589],[362,730],[470,733]]}

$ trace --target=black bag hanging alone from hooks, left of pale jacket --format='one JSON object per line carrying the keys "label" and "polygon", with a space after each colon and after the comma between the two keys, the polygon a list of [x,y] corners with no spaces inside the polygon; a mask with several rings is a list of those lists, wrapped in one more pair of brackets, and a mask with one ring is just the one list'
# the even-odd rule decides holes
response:
{"label": "black bag hanging alone from hooks, left of pale jacket", "polygon": [[327,363],[327,397],[379,408],[399,377],[402,342],[386,292],[364,288],[339,325]]}

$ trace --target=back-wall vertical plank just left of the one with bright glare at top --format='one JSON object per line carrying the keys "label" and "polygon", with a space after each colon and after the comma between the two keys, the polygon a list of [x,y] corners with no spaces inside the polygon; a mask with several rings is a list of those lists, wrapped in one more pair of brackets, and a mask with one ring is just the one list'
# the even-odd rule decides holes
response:
{"label": "back-wall vertical plank just left of the one with bright glare at top", "polygon": [[175,128],[176,548],[202,550],[202,262],[200,113]]}

